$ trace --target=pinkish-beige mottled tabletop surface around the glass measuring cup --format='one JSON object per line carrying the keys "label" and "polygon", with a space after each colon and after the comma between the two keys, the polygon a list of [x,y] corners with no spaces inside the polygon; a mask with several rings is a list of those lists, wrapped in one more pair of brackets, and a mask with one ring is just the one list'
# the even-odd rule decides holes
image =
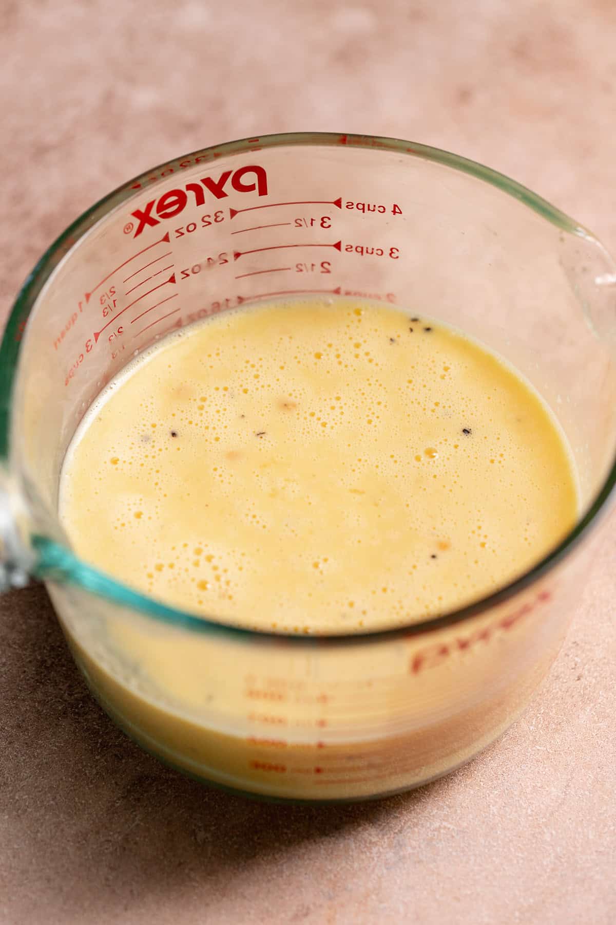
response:
{"label": "pinkish-beige mottled tabletop surface around the glass measuring cup", "polygon": [[[269,131],[449,148],[616,251],[611,0],[140,9],[0,6],[2,317],[43,248],[115,185]],[[351,808],[249,803],[164,769],[92,702],[42,588],[1,598],[0,921],[613,922],[614,517],[596,550],[524,718],[463,771]]]}

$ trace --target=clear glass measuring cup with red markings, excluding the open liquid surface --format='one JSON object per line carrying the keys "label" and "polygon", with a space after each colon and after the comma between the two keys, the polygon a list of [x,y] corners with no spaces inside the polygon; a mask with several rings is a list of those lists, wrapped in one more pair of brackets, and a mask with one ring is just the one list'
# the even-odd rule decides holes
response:
{"label": "clear glass measuring cup with red markings, excluding the open liquid surface", "polygon": [[[547,672],[608,507],[615,270],[592,235],[512,180],[408,142],[248,139],[128,182],[44,254],[6,327],[5,581],[43,578],[103,707],[199,778],[322,801],[452,770],[513,722]],[[79,561],[57,519],[58,475],[103,386],[176,328],[313,292],[434,314],[533,383],[580,477],[579,523],[561,546],[470,607],[320,637],[223,626]]]}

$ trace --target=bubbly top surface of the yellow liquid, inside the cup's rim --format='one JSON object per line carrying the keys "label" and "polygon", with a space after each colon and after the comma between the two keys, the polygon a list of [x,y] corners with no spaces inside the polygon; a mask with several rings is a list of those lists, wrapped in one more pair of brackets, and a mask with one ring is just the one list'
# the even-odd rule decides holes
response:
{"label": "bubbly top surface of the yellow liquid, inside the cup's rim", "polygon": [[451,611],[573,526],[537,394],[438,322],[273,303],[167,339],[105,389],[66,456],[77,553],[226,623],[365,632]]}

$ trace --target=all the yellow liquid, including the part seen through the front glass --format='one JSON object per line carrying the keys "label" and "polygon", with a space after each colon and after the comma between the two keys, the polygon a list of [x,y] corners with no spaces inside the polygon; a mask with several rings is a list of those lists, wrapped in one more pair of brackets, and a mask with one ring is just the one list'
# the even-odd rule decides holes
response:
{"label": "all the yellow liquid, including the part seen through the front glass", "polygon": [[[302,635],[449,611],[524,572],[576,512],[559,427],[512,368],[436,321],[349,300],[219,315],[139,356],[80,425],[60,492],[86,561]],[[391,793],[477,754],[563,629],[542,586],[440,633],[291,648],[50,591],[91,687],[143,746],[306,799]]]}

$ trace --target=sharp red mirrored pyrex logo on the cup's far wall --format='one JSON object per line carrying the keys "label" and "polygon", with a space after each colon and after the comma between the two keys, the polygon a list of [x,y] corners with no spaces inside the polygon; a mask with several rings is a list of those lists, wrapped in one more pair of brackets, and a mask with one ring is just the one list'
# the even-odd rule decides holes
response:
{"label": "sharp red mirrored pyrex logo on the cup's far wall", "polygon": [[[224,190],[231,179],[231,186],[237,192],[258,191],[260,196],[267,196],[267,174],[263,167],[251,164],[238,170],[225,170],[218,179],[202,177],[199,183],[186,183],[182,190],[169,190],[158,199],[152,199],[143,209],[135,209],[131,216],[139,225],[133,238],[139,238],[144,228],[160,225],[162,218],[175,218],[187,207],[188,193],[195,197],[195,205],[205,204],[205,191],[211,192],[216,199],[224,199],[229,193]],[[191,200],[190,200],[191,201]],[[192,201],[191,201],[192,202]],[[155,216],[152,214],[155,213]],[[156,217],[157,216],[157,217]]]}

